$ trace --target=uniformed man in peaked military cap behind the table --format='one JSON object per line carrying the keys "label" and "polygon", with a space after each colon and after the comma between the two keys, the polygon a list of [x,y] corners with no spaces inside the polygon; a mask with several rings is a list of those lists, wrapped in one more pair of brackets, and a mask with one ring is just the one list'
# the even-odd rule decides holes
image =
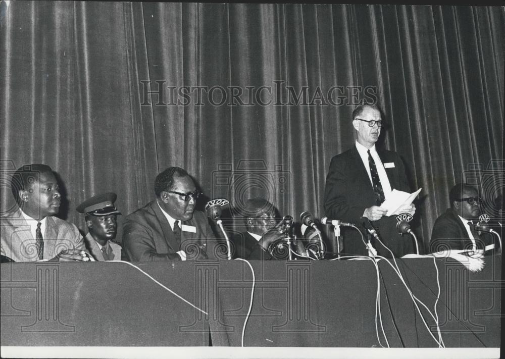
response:
{"label": "uniformed man in peaked military cap behind the table", "polygon": [[76,208],[84,214],[88,227],[84,242],[97,261],[121,259],[121,245],[114,241],[118,230],[117,215],[121,214],[114,206],[116,198],[116,193],[112,192],[98,194]]}

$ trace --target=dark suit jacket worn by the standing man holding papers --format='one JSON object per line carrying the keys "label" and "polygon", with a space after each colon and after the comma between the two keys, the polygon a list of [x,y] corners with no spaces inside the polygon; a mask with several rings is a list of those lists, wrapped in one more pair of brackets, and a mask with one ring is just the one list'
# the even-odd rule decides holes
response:
{"label": "dark suit jacket worn by the standing man holding papers", "polygon": [[[396,152],[377,150],[382,163],[394,163],[394,167],[385,168],[391,189],[410,192],[405,173],[405,166]],[[331,159],[324,191],[324,209],[331,219],[354,223],[364,228],[360,223],[366,208],[375,206],[375,194],[356,146],[340,153]],[[396,231],[396,218],[384,216],[372,223],[378,230],[380,239],[387,245],[395,257],[414,252],[414,240],[410,235],[399,235]],[[354,255],[368,255],[360,234],[352,228],[341,227],[343,237],[342,252]],[[367,236],[365,235],[365,241]],[[372,244],[378,254],[391,257],[391,254],[379,243]]]}

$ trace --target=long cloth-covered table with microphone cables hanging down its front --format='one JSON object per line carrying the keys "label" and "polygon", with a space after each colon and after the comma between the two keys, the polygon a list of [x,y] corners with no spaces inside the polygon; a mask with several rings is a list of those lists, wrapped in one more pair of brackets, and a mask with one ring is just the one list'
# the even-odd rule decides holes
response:
{"label": "long cloth-covered table with microphone cables hanging down its front", "polygon": [[446,347],[499,347],[501,258],[485,262],[396,260],[438,327],[385,260],[377,321],[369,260],[2,264],[0,344],[438,347],[440,330]]}

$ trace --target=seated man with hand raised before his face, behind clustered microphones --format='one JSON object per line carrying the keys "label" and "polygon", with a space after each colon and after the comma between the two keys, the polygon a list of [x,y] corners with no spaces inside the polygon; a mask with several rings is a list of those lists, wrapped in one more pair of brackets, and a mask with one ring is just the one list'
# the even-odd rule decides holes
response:
{"label": "seated man with hand raised before his face, behind clustered microphones", "polygon": [[260,197],[246,200],[242,212],[246,217],[246,231],[237,233],[231,238],[232,252],[233,258],[248,259],[262,236],[279,222],[279,215],[272,203]]}

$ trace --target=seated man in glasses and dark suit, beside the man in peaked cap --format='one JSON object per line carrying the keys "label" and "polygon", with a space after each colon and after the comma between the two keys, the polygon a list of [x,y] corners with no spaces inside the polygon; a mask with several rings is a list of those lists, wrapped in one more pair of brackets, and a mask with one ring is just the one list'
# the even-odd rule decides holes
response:
{"label": "seated man in glasses and dark suit, beside the man in peaked cap", "polygon": [[179,167],[170,167],[155,180],[157,198],[128,215],[123,246],[134,262],[185,261],[216,258],[216,236],[207,216],[195,211],[200,192]]}

